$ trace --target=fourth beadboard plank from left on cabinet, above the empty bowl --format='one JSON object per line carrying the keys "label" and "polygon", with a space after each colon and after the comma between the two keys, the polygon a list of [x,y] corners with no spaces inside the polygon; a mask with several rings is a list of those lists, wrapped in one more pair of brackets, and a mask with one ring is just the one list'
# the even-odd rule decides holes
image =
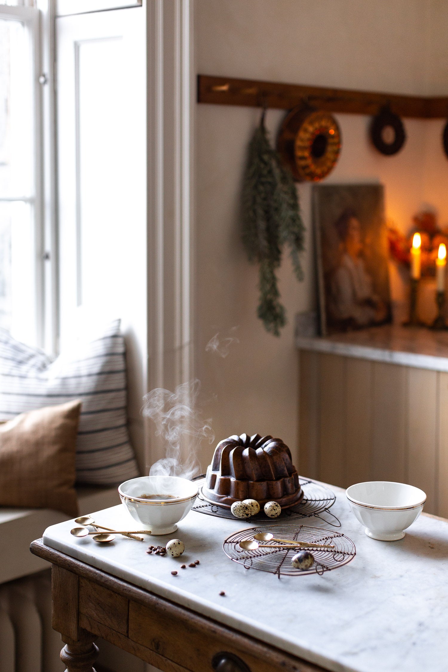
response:
{"label": "fourth beadboard plank from left on cabinet, above the empty bowl", "polygon": [[407,395],[406,367],[373,363],[371,480],[406,480]]}

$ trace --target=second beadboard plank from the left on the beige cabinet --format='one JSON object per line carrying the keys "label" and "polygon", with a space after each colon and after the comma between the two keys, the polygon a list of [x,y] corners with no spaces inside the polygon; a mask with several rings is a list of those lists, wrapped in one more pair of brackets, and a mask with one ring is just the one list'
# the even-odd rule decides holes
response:
{"label": "second beadboard plank from the left on the beige cabinet", "polygon": [[319,476],[326,483],[345,487],[346,358],[320,355]]}

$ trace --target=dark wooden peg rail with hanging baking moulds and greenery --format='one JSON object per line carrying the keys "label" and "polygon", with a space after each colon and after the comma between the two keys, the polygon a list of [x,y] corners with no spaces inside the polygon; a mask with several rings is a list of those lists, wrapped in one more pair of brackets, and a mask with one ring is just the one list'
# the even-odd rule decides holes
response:
{"label": "dark wooden peg rail with hanging baking moulds and greenery", "polygon": [[326,89],[300,84],[281,84],[256,79],[197,76],[198,103],[238,105],[291,110],[301,102],[326,112],[374,115],[384,105],[400,117],[448,118],[448,97],[396,95],[351,89]]}

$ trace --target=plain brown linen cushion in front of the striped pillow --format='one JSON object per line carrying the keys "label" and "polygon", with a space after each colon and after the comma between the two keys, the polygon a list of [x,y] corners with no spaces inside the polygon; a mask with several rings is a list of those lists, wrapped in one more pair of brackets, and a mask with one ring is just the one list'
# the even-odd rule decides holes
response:
{"label": "plain brown linen cushion in front of the striped pillow", "polygon": [[75,453],[81,401],[0,424],[0,506],[78,514]]}

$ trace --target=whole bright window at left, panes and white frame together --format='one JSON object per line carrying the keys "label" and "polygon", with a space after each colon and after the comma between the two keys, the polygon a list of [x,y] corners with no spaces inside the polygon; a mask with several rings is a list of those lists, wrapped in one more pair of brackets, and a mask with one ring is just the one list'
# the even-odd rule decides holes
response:
{"label": "whole bright window at left, panes and white frame together", "polygon": [[38,67],[37,9],[0,5],[0,327],[30,345],[43,336]]}

